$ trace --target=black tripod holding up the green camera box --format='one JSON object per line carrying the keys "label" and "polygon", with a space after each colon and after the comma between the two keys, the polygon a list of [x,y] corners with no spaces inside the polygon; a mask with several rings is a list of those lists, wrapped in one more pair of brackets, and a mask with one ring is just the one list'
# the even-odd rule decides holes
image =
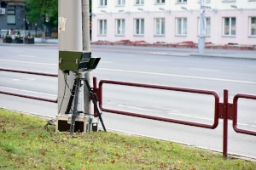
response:
{"label": "black tripod holding up the green camera box", "polygon": [[69,98],[68,105],[67,105],[67,111],[66,111],[66,114],[68,114],[71,109],[72,103],[73,103],[73,114],[72,114],[72,121],[71,121],[71,125],[70,125],[70,134],[71,135],[73,134],[74,127],[75,127],[75,119],[77,116],[79,116],[79,113],[81,113],[81,111],[78,111],[78,103],[79,103],[79,88],[81,87],[81,81],[83,81],[83,80],[85,80],[86,88],[89,91],[90,99],[93,102],[93,105],[97,112],[97,116],[99,116],[100,122],[102,123],[102,127],[103,127],[104,131],[107,132],[104,122],[102,120],[102,112],[99,110],[98,105],[96,103],[98,100],[96,94],[93,93],[93,91],[90,88],[90,85],[86,79],[76,76],[74,84],[73,84],[72,95]]}

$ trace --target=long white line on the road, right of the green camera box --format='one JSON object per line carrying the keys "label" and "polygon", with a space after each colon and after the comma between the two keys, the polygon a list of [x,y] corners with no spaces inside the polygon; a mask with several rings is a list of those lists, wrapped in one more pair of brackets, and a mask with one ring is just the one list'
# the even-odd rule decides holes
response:
{"label": "long white line on the road, right of the green camera box", "polygon": [[214,77],[195,77],[195,76],[186,76],[186,75],[177,75],[177,74],[167,74],[167,73],[160,73],[160,72],[126,71],[126,70],[108,69],[108,68],[98,68],[98,70],[102,70],[102,71],[128,72],[128,73],[147,74],[147,75],[156,75],[156,76],[165,76],[165,77],[194,78],[194,79],[203,79],[203,80],[220,81],[220,82],[239,82],[239,83],[247,83],[247,84],[256,84],[256,82],[241,81],[241,80],[234,80],[234,79],[223,79],[223,78],[214,78]]}

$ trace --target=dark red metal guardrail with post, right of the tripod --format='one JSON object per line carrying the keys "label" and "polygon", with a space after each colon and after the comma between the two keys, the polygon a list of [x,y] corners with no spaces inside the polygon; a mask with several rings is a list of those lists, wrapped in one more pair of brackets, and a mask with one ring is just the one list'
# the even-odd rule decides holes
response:
{"label": "dark red metal guardrail with post, right of the tripod", "polygon": [[[236,94],[233,99],[233,104],[230,104],[228,101],[228,90],[224,89],[224,102],[219,102],[218,94],[214,91],[208,91],[208,90],[201,90],[201,89],[192,89],[192,88],[176,88],[176,87],[166,87],[166,86],[156,86],[156,85],[150,85],[150,84],[142,84],[142,83],[134,83],[134,82],[118,82],[118,81],[111,81],[111,80],[101,80],[99,82],[99,88],[97,88],[96,84],[96,77],[93,78],[93,84],[94,84],[94,92],[97,94],[99,98],[99,107],[102,111],[112,112],[119,115],[126,115],[126,116],[137,116],[141,118],[147,118],[147,119],[153,119],[163,122],[173,122],[188,126],[194,126],[194,127],[204,127],[204,128],[210,128],[214,129],[218,127],[218,119],[223,119],[224,129],[223,129],[223,156],[226,158],[228,156],[228,120],[233,121],[233,128],[236,131],[236,133],[244,133],[248,135],[256,136],[256,132],[248,131],[245,129],[241,129],[237,127],[237,101],[239,98],[245,98],[245,99],[256,99],[255,95],[250,94]],[[185,122],[170,118],[163,118],[159,116],[148,116],[143,115],[139,113],[133,113],[128,111],[118,111],[113,109],[108,109],[103,107],[103,99],[102,99],[102,92],[103,92],[103,84],[115,84],[115,85],[121,85],[121,86],[131,86],[131,87],[139,87],[139,88],[156,88],[156,89],[162,89],[162,90],[171,90],[171,91],[178,91],[178,92],[185,92],[185,93],[193,93],[193,94],[208,94],[212,95],[214,97],[215,103],[214,103],[214,120],[212,125],[208,124],[201,124],[196,122]]]}

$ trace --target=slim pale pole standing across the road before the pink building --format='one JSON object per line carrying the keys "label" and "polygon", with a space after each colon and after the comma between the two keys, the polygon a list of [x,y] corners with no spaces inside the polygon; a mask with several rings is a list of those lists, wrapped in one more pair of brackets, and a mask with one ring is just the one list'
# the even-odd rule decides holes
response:
{"label": "slim pale pole standing across the road before the pink building", "polygon": [[206,39],[206,26],[205,26],[205,0],[200,0],[200,18],[199,18],[199,40],[198,40],[198,53],[205,53],[205,39]]}

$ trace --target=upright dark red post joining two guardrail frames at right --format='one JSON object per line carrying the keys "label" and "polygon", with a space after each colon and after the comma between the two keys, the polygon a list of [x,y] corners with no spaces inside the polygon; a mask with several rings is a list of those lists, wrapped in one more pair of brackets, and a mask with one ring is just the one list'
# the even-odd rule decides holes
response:
{"label": "upright dark red post joining two guardrail frames at right", "polygon": [[229,91],[224,89],[224,117],[223,117],[223,156],[228,156],[228,102]]}

